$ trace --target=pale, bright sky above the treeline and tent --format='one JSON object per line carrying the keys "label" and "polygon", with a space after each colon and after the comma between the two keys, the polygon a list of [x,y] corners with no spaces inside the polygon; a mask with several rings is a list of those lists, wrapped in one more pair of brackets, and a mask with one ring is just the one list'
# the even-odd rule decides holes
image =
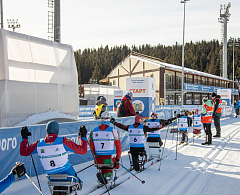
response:
{"label": "pale, bright sky above the treeline and tent", "polygon": [[[3,0],[4,28],[7,19],[18,19],[21,28],[16,32],[47,39],[47,2]],[[220,40],[220,5],[228,2],[187,2],[185,43]],[[227,35],[240,37],[240,1],[230,2]],[[101,45],[182,44],[183,4],[180,0],[61,0],[61,41],[74,50]]]}

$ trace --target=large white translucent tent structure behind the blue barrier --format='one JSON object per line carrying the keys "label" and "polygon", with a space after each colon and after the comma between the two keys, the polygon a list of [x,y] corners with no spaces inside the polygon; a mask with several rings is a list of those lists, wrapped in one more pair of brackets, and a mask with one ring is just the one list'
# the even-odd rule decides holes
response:
{"label": "large white translucent tent structure behind the blue barrier", "polygon": [[78,118],[72,46],[0,29],[0,127],[55,110]]}

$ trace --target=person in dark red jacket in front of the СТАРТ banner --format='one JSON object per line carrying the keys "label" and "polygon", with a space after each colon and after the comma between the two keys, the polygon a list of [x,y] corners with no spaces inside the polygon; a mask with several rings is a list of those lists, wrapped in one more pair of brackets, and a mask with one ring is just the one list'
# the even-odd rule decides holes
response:
{"label": "person in dark red jacket in front of the \u0421\u0422\u0410\u0420\u0422 banner", "polygon": [[135,110],[132,105],[133,93],[127,91],[117,108],[118,117],[135,116]]}

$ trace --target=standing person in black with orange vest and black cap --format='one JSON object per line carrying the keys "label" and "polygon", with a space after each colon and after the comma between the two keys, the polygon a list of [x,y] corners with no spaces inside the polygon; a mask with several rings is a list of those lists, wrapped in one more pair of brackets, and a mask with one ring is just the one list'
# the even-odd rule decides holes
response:
{"label": "standing person in black with orange vest and black cap", "polygon": [[221,96],[217,95],[216,93],[212,93],[213,99],[213,118],[214,118],[214,125],[216,128],[216,135],[213,137],[221,137],[221,127],[220,127],[220,117],[222,115],[222,100]]}

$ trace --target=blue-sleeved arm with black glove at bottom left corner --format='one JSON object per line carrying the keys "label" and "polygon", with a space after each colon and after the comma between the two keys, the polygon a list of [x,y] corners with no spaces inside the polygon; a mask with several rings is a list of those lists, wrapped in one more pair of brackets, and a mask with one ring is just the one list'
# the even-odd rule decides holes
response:
{"label": "blue-sleeved arm with black glove at bottom left corner", "polygon": [[11,170],[11,172],[0,181],[0,194],[6,190],[15,180],[25,175],[26,169],[24,163],[17,163]]}

